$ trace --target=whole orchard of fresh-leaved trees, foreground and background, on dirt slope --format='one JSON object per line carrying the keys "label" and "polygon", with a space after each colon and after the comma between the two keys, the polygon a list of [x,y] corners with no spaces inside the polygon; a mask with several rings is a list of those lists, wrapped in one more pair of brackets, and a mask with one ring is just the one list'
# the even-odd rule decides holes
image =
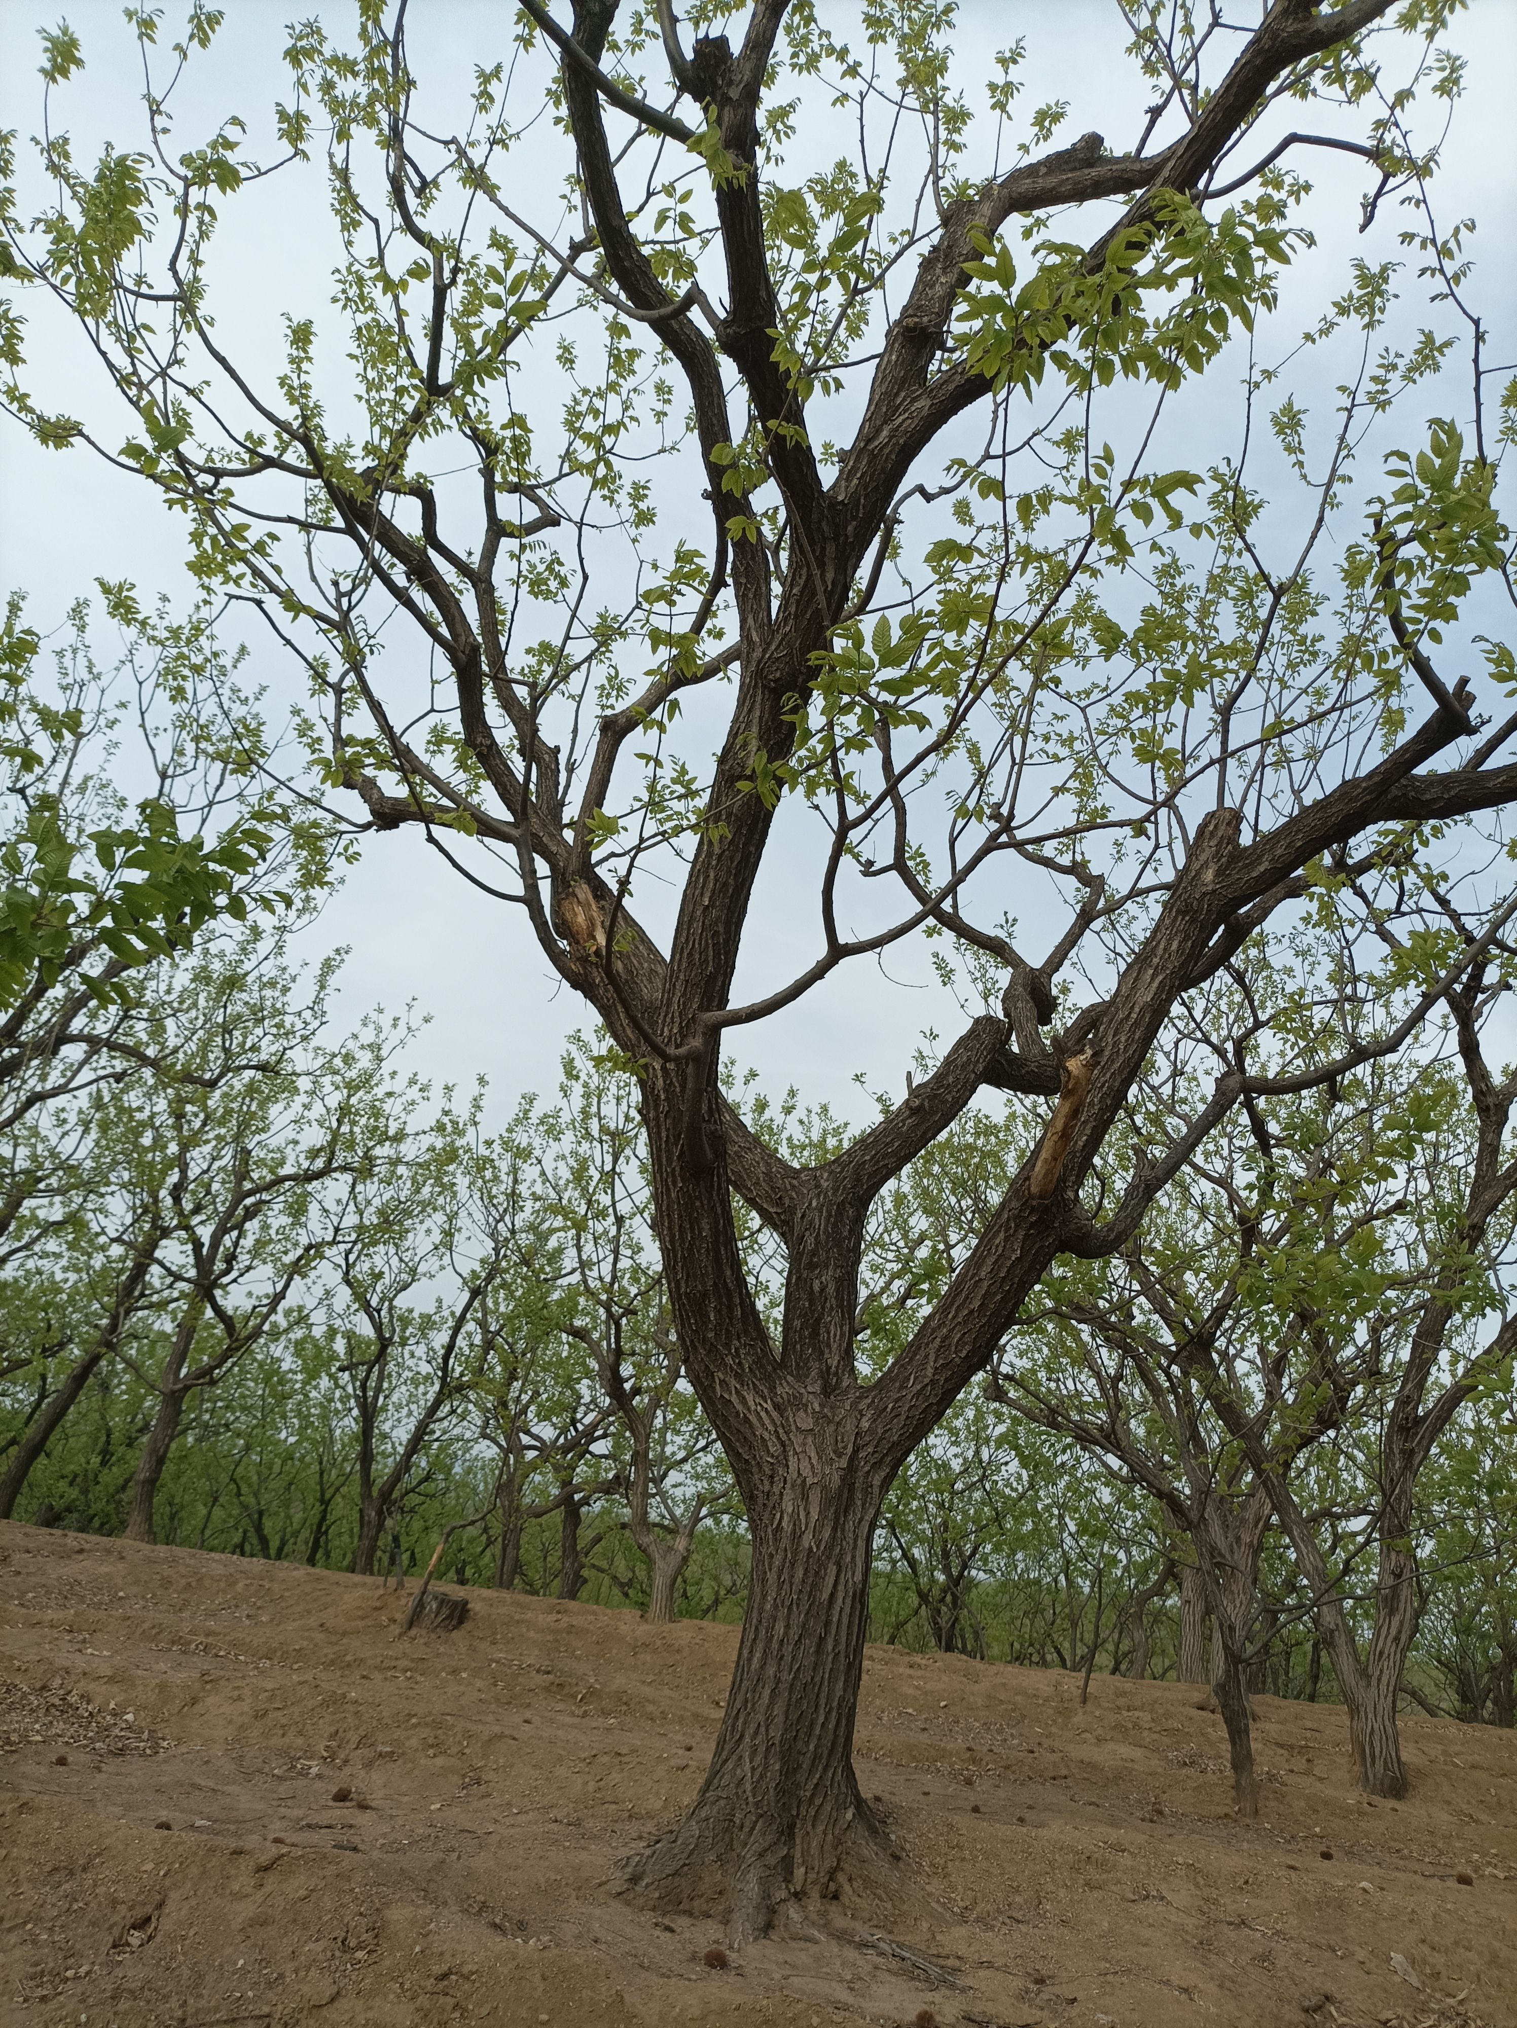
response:
{"label": "whole orchard of fresh-leaved trees, foreground and background, on dirt slope", "polygon": [[[1209,1685],[1241,1811],[1257,1691],[1513,1724],[1517,369],[1454,0],[1243,14],[1067,142],[1053,12],[359,0],[191,134],[130,10],[0,162],[12,428],[195,582],[4,631],[0,1515],[740,1618],[623,1866],[736,1937],[880,1850],[870,1639]],[[564,988],[505,1124],[302,955],[424,848]]]}

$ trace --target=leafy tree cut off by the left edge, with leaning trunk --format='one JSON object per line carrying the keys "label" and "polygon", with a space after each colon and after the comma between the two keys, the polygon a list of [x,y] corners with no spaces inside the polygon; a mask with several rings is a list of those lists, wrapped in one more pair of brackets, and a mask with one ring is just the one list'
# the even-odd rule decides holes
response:
{"label": "leafy tree cut off by the left edge, with leaning trunk", "polygon": [[[0,1515],[154,1282],[162,1190],[101,1160],[101,1093],[140,1087],[197,933],[290,898],[270,856],[288,809],[254,793],[268,740],[241,657],[203,606],[176,621],[128,586],[101,594],[112,667],[87,600],[51,655],[18,594],[0,623],[0,1261],[6,1359],[34,1389],[0,1442]],[[30,1249],[47,1257],[18,1268]]]}

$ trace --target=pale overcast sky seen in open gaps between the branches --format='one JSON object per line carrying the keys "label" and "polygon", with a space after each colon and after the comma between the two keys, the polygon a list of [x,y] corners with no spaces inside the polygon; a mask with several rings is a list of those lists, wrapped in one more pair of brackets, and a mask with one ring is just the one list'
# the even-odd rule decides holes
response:
{"label": "pale overcast sky seen in open gaps between the branches", "polygon": [[[75,0],[65,12],[83,39],[87,69],[67,87],[57,116],[77,136],[81,158],[91,156],[105,134],[124,146],[134,144],[142,81],[120,0]],[[213,124],[233,110],[251,114],[288,95],[278,59],[290,12],[276,0],[229,0],[227,24],[213,55],[197,63],[193,91],[180,112],[185,144],[199,136],[203,122]],[[339,34],[351,20],[349,8],[314,12],[329,18]],[[168,26],[176,14],[170,6]],[[829,8],[821,0],[821,14],[852,16],[852,8]],[[0,0],[0,49],[6,51],[0,126],[16,128],[22,138],[34,134],[41,122],[34,30],[57,20],[57,6]],[[473,63],[501,53],[509,10],[503,0],[424,0],[424,6],[414,6],[412,20],[426,39],[424,45],[418,41],[414,55],[418,67],[426,65],[428,83],[456,83],[462,93]],[[1119,57],[1115,8],[1097,0],[1061,0],[1059,6],[1044,0],[982,6],[971,0],[961,8],[961,20],[969,73],[980,69],[984,75],[994,45],[1026,34],[1028,101],[1065,97],[1071,101],[1067,136],[1097,128],[1111,148],[1132,144],[1142,95],[1134,93]],[[1474,213],[1483,223],[1474,241],[1480,262],[1474,294],[1493,331],[1501,333],[1495,343],[1507,347],[1501,353],[1507,359],[1517,353],[1511,343],[1517,329],[1511,103],[1517,0],[1474,0],[1454,43],[1472,63],[1438,199],[1446,217]],[[825,122],[817,124],[819,158],[846,146],[848,134],[832,134]],[[1391,215],[1359,241],[1355,227],[1365,164],[1316,154],[1310,174],[1318,185],[1312,223],[1322,243],[1286,278],[1284,306],[1272,333],[1276,351],[1288,349],[1292,335],[1320,312],[1324,294],[1343,274],[1345,254],[1383,258],[1401,223]],[[286,306],[294,312],[324,308],[331,247],[320,231],[320,203],[316,176],[304,183],[290,176],[272,178],[227,205],[227,249],[217,264],[223,294],[217,302],[221,329],[237,329],[243,347],[272,347]],[[227,251],[235,256],[231,262]],[[1407,318],[1420,320],[1418,284],[1407,284]],[[103,414],[97,375],[77,337],[49,320],[43,306],[28,304],[28,310],[34,316],[30,351],[47,393],[73,414],[91,420]],[[1428,397],[1428,412],[1452,406],[1462,414],[1466,389],[1462,373],[1452,393]],[[1229,446],[1235,422],[1237,359],[1223,357],[1207,381],[1184,395],[1188,460],[1201,466],[1209,454]],[[183,519],[166,515],[146,487],[112,473],[87,450],[41,452],[24,432],[0,420],[0,590],[26,590],[32,625],[57,625],[97,576],[132,578],[144,592],[166,590],[185,598],[183,527]],[[290,696],[278,651],[258,635],[249,641],[256,647],[256,679],[268,683],[276,698]],[[795,880],[795,860],[791,850],[783,850],[761,888],[744,947],[744,973],[754,980],[789,975],[797,959],[805,963],[813,951],[809,921],[797,925]],[[582,1004],[560,986],[531,943],[521,911],[491,904],[466,888],[412,834],[387,834],[367,844],[361,866],[324,913],[320,939],[353,947],[345,988],[353,1014],[373,1002],[400,1008],[414,1000],[432,1016],[420,1048],[426,1067],[460,1081],[487,1071],[501,1105],[521,1089],[552,1085],[566,1030],[584,1022]],[[795,1079],[807,1097],[832,1097],[854,1111],[858,1101],[850,1079],[856,1071],[864,1071],[872,1089],[898,1091],[911,1040],[927,1026],[953,1032],[957,1012],[931,982],[923,951],[890,955],[886,971],[898,990],[886,990],[874,969],[860,965],[809,996],[801,1010],[765,1024],[756,1036],[744,1034],[742,1046],[752,1051],[763,1077],[775,1087]]]}

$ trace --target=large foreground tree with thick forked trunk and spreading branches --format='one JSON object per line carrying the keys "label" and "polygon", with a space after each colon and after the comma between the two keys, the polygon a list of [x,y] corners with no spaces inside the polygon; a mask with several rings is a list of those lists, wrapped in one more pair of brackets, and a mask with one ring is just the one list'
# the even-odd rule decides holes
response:
{"label": "large foreground tree with thick forked trunk and spreading branches", "polygon": [[[187,146],[176,71],[142,148],[93,170],[49,107],[47,183],[6,209],[6,266],[79,320],[130,434],[49,412],[14,320],[12,410],[185,509],[193,568],[304,659],[333,789],[517,902],[639,1065],[673,1324],[752,1586],[706,1783],[625,1882],[722,1900],[736,1935],[880,1850],[850,1744],[894,1472],[1051,1259],[1117,1247],[1292,1055],[1207,1028],[1219,969],[1314,884],[1353,872],[1373,900],[1458,850],[1430,827],[1517,795],[1513,722],[1487,734],[1428,653],[1507,539],[1466,256],[1410,128],[1418,83],[1458,91],[1450,10],[1122,6],[1113,150],[1051,146],[1063,101],[1020,118],[1020,51],[971,55],[965,99],[963,28],[925,0],[862,8],[852,47],[803,0],[702,8],[694,41],[669,4],[523,0],[515,51],[477,16],[497,41],[456,110],[422,101],[406,8],[365,0],[351,51],[310,22],[288,51],[280,144],[294,174],[324,152],[343,333],[329,351],[288,304],[274,369],[215,316],[245,128]],[[197,8],[180,69],[213,26]],[[1085,18],[1049,32],[1073,91]],[[45,47],[55,93],[79,47]],[[1387,191],[1412,201],[1442,296],[1397,345],[1381,239],[1343,260],[1322,436],[1282,379],[1296,327],[1259,324],[1308,223],[1341,223],[1298,170],[1332,160],[1316,144],[1365,158],[1373,231]],[[1438,424],[1351,519],[1367,432],[1470,324],[1472,397],[1440,397],[1472,452]],[[1166,410],[1233,337],[1237,450],[1174,468]],[[785,935],[754,947],[765,878]],[[866,1134],[787,1162],[724,1095],[724,1048],[923,935],[984,1012]],[[1166,1036],[1205,1038],[1215,1097],[1083,1197]],[[1055,1101],[1046,1134],[878,1369],[856,1357],[870,1205],[986,1087]],[[775,1233],[777,1316],[734,1192]]]}

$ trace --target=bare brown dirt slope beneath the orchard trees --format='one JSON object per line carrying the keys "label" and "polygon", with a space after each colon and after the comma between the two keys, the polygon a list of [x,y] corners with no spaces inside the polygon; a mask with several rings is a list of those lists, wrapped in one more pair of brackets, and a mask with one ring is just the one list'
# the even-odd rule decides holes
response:
{"label": "bare brown dirt slope beneath the orchard trees", "polygon": [[[0,1525],[0,2022],[211,2028],[1517,2024],[1517,1736],[1259,1699],[1266,1807],[1174,1683],[870,1649],[892,1888],[724,1969],[617,1898],[700,1783],[724,1626]],[[880,1939],[951,1973],[933,1981]]]}

